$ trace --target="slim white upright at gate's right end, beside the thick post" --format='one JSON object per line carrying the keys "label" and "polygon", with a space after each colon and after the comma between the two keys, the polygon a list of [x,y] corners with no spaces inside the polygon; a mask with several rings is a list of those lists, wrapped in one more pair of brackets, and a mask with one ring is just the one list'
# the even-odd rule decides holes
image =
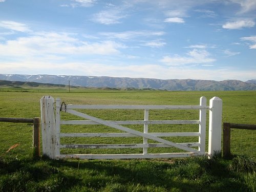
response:
{"label": "slim white upright at gate's right end, beside the thick post", "polygon": [[[206,97],[200,98],[200,106],[206,107]],[[205,136],[206,136],[206,109],[200,109],[199,112],[199,151],[205,154]]]}

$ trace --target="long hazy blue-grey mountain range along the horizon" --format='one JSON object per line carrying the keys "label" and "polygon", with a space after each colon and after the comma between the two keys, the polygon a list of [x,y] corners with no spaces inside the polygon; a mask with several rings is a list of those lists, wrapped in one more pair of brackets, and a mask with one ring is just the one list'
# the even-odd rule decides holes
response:
{"label": "long hazy blue-grey mountain range along the horizon", "polygon": [[94,88],[154,89],[168,91],[236,91],[256,90],[256,80],[194,80],[194,79],[151,79],[128,77],[97,77],[71,75],[16,75],[0,74],[0,80],[51,83]]}

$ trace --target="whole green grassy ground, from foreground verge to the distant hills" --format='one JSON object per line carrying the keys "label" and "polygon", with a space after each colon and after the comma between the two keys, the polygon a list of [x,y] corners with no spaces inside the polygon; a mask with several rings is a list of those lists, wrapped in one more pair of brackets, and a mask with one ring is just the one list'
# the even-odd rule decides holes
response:
{"label": "whole green grassy ground, from foreground verge to the distant hills", "polygon": [[[201,96],[207,98],[208,105],[210,98],[218,96],[223,100],[223,122],[256,124],[255,91],[167,92],[89,89],[80,91],[71,89],[71,93],[63,92],[63,89],[0,91],[0,117],[40,117],[40,98],[44,95],[59,97],[67,104],[159,105],[197,105]],[[136,116],[131,114],[126,116],[132,117],[132,120],[143,119],[141,114]],[[154,115],[161,117],[161,114]],[[110,118],[106,115],[102,116]],[[112,115],[113,118],[116,116],[118,115],[115,113]],[[198,117],[195,112],[171,114],[171,116],[174,119]],[[69,128],[64,127],[64,129]],[[256,190],[255,131],[231,131],[231,153],[239,156],[232,160],[221,158],[208,160],[200,157],[85,161],[32,159],[32,125],[29,123],[0,122],[0,132],[0,191]],[[8,148],[16,143],[19,145],[6,153]],[[243,158],[242,155],[250,158]],[[241,166],[236,167],[239,163]],[[243,166],[244,164],[246,166]]]}

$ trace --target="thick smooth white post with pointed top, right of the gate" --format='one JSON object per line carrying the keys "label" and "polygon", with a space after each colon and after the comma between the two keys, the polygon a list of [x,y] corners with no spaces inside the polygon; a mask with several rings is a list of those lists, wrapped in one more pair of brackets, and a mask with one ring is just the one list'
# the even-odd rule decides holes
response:
{"label": "thick smooth white post with pointed top, right of the gate", "polygon": [[208,155],[213,156],[221,153],[222,100],[219,97],[211,98],[209,108]]}

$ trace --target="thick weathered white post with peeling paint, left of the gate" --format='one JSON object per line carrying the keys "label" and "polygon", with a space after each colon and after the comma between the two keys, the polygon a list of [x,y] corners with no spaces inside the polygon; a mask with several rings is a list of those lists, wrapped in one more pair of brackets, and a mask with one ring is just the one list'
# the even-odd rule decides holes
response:
{"label": "thick weathered white post with peeling paint, left of the gate", "polygon": [[55,115],[54,98],[44,96],[41,103],[42,155],[55,158]]}

